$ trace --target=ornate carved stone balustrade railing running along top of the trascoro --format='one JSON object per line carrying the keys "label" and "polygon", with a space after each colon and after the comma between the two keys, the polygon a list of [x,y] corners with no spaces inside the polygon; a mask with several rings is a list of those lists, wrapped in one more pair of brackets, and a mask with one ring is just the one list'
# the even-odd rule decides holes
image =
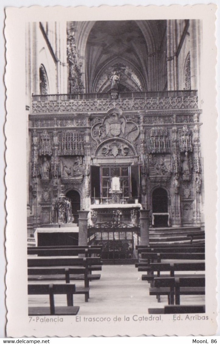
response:
{"label": "ornate carved stone balustrade railing running along top of the trascoro", "polygon": [[32,114],[53,112],[198,109],[197,91],[122,92],[118,99],[109,93],[33,95]]}

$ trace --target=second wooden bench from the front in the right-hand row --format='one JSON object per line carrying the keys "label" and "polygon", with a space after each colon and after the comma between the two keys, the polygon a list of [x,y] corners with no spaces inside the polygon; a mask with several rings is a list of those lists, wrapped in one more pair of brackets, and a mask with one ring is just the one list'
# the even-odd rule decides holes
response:
{"label": "second wooden bench from the front in the right-hand row", "polygon": [[168,295],[168,303],[180,304],[180,295],[205,295],[205,277],[156,277],[150,295]]}

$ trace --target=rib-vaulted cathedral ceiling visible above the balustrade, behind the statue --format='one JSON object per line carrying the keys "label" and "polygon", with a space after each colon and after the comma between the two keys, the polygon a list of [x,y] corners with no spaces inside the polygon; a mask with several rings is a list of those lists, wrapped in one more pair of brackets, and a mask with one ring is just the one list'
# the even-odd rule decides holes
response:
{"label": "rib-vaulted cathedral ceiling visible above the balustrade, behind the statue", "polygon": [[85,45],[87,92],[108,92],[114,71],[120,74],[121,92],[152,88],[165,31],[166,21],[95,22]]}

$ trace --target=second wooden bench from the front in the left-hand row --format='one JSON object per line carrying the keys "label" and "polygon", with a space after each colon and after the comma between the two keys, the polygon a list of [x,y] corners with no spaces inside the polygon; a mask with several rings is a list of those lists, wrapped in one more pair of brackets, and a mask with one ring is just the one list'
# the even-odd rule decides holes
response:
{"label": "second wooden bench from the front in the left-hand row", "polygon": [[[28,281],[65,281],[84,280],[87,285],[85,268],[28,268]],[[94,275],[92,275],[94,276]],[[89,287],[76,287],[75,294],[84,294],[85,302],[89,299]]]}

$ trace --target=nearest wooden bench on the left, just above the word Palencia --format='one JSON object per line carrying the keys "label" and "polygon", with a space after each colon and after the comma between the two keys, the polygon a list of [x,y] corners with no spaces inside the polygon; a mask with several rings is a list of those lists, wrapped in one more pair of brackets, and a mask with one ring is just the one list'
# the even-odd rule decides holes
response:
{"label": "nearest wooden bench on the left, just above the word Palencia", "polygon": [[[28,315],[76,315],[80,309],[73,305],[75,284],[28,284],[29,295],[49,294],[50,307],[29,307]],[[66,294],[67,306],[55,307],[54,294]]]}

